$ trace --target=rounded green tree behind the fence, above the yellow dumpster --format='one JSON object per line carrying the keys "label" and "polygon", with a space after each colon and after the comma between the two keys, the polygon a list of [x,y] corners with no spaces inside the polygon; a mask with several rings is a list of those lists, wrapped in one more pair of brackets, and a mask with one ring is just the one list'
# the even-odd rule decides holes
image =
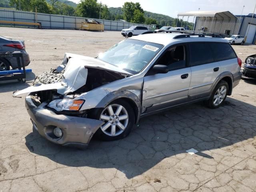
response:
{"label": "rounded green tree behind the fence, above the yellow dumpster", "polygon": [[81,17],[99,18],[100,6],[97,0],[81,0],[76,7],[76,15]]}

